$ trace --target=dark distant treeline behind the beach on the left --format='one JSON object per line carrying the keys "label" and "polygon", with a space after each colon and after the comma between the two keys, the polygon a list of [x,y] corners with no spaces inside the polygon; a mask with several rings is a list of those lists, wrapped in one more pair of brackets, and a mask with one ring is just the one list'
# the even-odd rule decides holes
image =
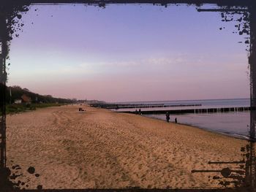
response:
{"label": "dark distant treeline behind the beach on the left", "polygon": [[31,103],[74,103],[73,99],[61,99],[54,98],[50,95],[39,95],[38,93],[33,93],[27,88],[20,88],[19,86],[7,87],[7,104],[14,103],[15,100],[21,99],[23,95],[29,96],[31,98]]}

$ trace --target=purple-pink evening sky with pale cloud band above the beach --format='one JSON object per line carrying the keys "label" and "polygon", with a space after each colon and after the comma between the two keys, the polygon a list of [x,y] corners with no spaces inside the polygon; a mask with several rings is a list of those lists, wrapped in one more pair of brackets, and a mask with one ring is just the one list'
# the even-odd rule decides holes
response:
{"label": "purple-pink evening sky with pale cloud band above the beach", "polygon": [[244,37],[218,12],[37,5],[22,20],[7,85],[113,102],[249,98]]}

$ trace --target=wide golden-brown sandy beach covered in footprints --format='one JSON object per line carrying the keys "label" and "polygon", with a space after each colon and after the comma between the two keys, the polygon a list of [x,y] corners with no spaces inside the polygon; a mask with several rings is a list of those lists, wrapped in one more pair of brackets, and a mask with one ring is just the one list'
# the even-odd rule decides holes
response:
{"label": "wide golden-brown sandy beach covered in footprints", "polygon": [[221,188],[212,178],[221,174],[192,169],[235,169],[208,161],[240,161],[246,145],[200,128],[79,107],[7,116],[7,166],[20,165],[26,188]]}

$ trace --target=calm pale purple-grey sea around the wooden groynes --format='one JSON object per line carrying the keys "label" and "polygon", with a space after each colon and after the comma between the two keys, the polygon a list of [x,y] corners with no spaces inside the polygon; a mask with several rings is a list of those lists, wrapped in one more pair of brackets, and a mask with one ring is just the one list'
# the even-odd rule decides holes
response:
{"label": "calm pale purple-grey sea around the wooden groynes", "polygon": [[[143,110],[178,110],[178,109],[209,109],[209,108],[224,108],[224,107],[249,107],[250,99],[206,99],[206,100],[184,100],[184,101],[138,101],[138,102],[122,102],[118,104],[164,104],[164,105],[181,105],[180,107],[154,107],[141,108]],[[189,105],[189,106],[186,106]],[[197,105],[197,106],[191,106]],[[116,112],[127,112],[139,110],[118,109]],[[145,115],[148,118],[157,118],[165,120],[165,114]],[[174,122],[177,118],[178,123],[197,128],[203,128],[208,131],[214,131],[221,134],[227,134],[231,137],[242,139],[249,138],[249,123],[250,112],[248,110],[236,112],[205,112],[205,113],[183,113],[171,114],[170,121]]]}

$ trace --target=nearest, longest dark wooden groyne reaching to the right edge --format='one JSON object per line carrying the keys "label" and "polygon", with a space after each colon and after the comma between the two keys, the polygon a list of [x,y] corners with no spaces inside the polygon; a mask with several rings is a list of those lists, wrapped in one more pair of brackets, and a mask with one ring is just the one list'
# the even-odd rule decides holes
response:
{"label": "nearest, longest dark wooden groyne reaching to the right edge", "polygon": [[[221,107],[221,108],[202,108],[202,109],[179,109],[179,110],[141,110],[142,115],[152,115],[152,114],[183,114],[183,113],[208,113],[208,112],[249,112],[251,107]],[[127,112],[127,113],[138,113],[136,111],[117,111],[117,112]]]}

